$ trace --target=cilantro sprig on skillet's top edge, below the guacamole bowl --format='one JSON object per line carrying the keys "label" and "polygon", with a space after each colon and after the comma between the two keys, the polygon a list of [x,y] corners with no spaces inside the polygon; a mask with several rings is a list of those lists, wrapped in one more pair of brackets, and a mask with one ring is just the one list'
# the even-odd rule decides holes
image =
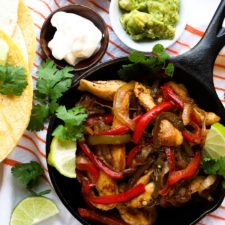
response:
{"label": "cilantro sprig on skillet's top edge, below the guacamole bowl", "polygon": [[153,47],[151,57],[145,56],[144,53],[132,51],[128,59],[130,63],[123,65],[118,71],[122,80],[142,79],[146,74],[156,74],[161,70],[164,70],[166,75],[173,76],[174,65],[167,62],[169,55],[161,44]]}

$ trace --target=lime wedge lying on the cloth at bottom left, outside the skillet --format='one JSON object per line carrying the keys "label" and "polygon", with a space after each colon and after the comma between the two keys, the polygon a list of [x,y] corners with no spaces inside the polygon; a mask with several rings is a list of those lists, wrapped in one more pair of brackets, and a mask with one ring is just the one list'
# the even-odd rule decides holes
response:
{"label": "lime wedge lying on the cloth at bottom left, outside the skillet", "polygon": [[13,210],[10,225],[32,225],[56,215],[59,212],[55,203],[45,197],[23,199]]}

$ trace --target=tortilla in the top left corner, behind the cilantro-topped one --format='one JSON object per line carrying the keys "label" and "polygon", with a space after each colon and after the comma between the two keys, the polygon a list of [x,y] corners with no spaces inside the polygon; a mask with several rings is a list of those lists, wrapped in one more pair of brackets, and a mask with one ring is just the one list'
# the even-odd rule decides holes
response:
{"label": "tortilla in the top left corner, behind the cilantro-topped one", "polygon": [[0,0],[0,29],[19,46],[30,71],[36,50],[36,34],[30,11],[23,0]]}

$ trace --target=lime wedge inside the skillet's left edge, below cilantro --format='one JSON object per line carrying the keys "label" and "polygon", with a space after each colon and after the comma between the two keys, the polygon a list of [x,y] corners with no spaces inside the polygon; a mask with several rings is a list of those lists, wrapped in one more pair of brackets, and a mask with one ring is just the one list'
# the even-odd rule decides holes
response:
{"label": "lime wedge inside the skillet's left edge, below cilantro", "polygon": [[76,178],[75,157],[77,145],[74,141],[60,141],[56,137],[52,139],[49,165],[55,167],[65,177]]}

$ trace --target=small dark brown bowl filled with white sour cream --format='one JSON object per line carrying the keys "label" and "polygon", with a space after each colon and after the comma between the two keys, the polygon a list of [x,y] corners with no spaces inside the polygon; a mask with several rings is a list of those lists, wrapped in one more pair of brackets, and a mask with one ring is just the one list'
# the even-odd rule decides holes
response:
{"label": "small dark brown bowl filled with white sour cream", "polygon": [[109,33],[104,20],[92,9],[69,5],[51,13],[44,22],[40,44],[46,58],[59,68],[81,71],[92,67],[105,54]]}

